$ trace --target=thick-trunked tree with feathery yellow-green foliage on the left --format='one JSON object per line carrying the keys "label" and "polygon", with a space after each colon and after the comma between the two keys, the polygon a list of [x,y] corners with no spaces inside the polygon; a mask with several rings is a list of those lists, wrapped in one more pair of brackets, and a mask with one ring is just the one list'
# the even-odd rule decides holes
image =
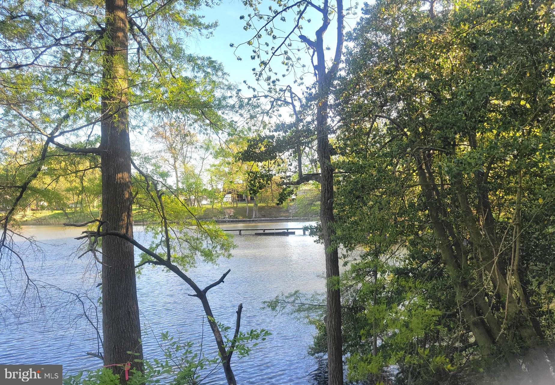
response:
{"label": "thick-trunked tree with feathery yellow-green foliage on the left", "polygon": [[[202,33],[213,27],[195,14],[200,6],[201,2],[108,0],[104,7],[87,1],[78,6],[13,1],[0,8],[2,144],[4,149],[38,144],[28,146],[28,162],[11,169],[13,174],[2,185],[11,206],[2,216],[2,253],[26,271],[26,255],[11,241],[16,231],[12,225],[40,185],[41,175],[48,171],[57,178],[48,168],[51,159],[90,158],[98,164],[100,158],[102,215],[91,213],[92,220],[80,225],[95,229],[85,232],[85,238],[97,261],[100,234],[104,237],[104,351],[98,355],[103,354],[106,365],[132,362],[133,368],[142,367],[132,227],[137,195],[132,183],[137,176],[131,171],[130,122],[141,123],[144,116],[152,121],[168,112],[195,116],[214,129],[223,121],[217,109],[229,88],[221,66],[184,49],[186,32]],[[216,95],[216,89],[223,93]],[[217,229],[199,229],[194,250],[184,246],[185,241],[170,239],[167,229],[155,235],[164,244],[179,244],[181,266],[228,254],[231,244]],[[28,278],[30,287],[38,290]],[[118,366],[110,367],[122,372]],[[123,372],[121,379],[125,382]]]}

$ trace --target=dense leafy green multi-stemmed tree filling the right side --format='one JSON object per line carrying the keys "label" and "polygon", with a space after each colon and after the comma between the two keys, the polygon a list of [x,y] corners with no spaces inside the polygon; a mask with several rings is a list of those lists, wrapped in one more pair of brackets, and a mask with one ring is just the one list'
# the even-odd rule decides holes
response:
{"label": "dense leafy green multi-stemmed tree filling the right side", "polygon": [[[441,336],[428,319],[423,337],[412,335],[409,343],[436,354],[429,362],[443,356],[451,363],[436,371],[403,353],[420,370],[431,366],[436,381],[442,372],[448,376],[452,364],[471,371],[472,359],[492,371],[502,367],[519,381],[553,381],[553,340],[546,333],[551,315],[531,305],[544,301],[541,287],[550,285],[536,281],[533,271],[549,270],[552,255],[546,230],[553,211],[542,202],[552,199],[553,178],[538,179],[552,167],[552,12],[543,2],[384,0],[365,8],[367,17],[353,35],[335,105],[344,160],[339,239],[367,250],[354,267],[355,282],[374,281],[374,271],[365,269],[380,269],[387,285],[379,292],[382,303],[390,303],[387,290],[395,289],[412,297],[422,292],[437,306],[436,322],[449,332]],[[545,243],[523,262],[520,253],[537,242],[526,227],[539,231]],[[375,262],[374,249],[386,259],[396,244],[407,248],[408,261]],[[391,271],[404,280],[388,285]],[[527,288],[519,284],[521,276],[527,276]],[[421,291],[418,285],[430,286]],[[413,300],[406,301],[409,308]],[[450,325],[453,311],[462,325]],[[363,314],[371,320],[380,315]],[[398,348],[388,338],[394,330],[368,330],[391,344],[378,351]],[[466,337],[437,349],[457,336]],[[350,367],[368,373],[382,359],[367,351],[351,356]],[[416,373],[408,366],[403,371]]]}

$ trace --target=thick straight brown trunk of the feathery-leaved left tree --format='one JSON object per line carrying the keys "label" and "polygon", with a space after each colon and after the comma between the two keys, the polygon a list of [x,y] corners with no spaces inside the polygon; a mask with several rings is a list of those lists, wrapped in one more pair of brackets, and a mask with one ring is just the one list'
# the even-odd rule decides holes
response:
{"label": "thick straight brown trunk of the feathery-leaved left tree", "polygon": [[[127,111],[127,0],[106,0],[107,47],[102,95],[101,170],[103,231],[133,237],[131,149]],[[133,245],[119,237],[102,242],[102,328],[104,365],[131,362],[142,370],[139,306]],[[138,355],[127,352],[138,353]],[[114,373],[123,369],[111,366]]]}

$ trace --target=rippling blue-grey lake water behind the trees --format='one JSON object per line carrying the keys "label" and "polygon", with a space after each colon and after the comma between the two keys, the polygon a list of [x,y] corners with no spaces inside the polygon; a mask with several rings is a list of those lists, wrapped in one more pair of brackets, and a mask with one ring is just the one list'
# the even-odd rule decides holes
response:
{"label": "rippling blue-grey lake water behind the trees", "polygon": [[[225,224],[231,228],[301,227],[307,222],[258,222]],[[78,259],[79,241],[74,237],[82,229],[63,226],[26,226],[41,250],[22,245],[29,276],[36,280],[39,297],[33,288],[20,300],[21,272],[0,278],[0,363],[1,364],[63,364],[65,373],[102,366],[99,359],[85,352],[97,350],[95,330],[83,317],[83,306],[95,321],[93,306],[75,301],[69,292],[87,294],[94,302],[99,296],[95,288],[98,264],[90,254]],[[135,237],[144,239],[140,226]],[[281,292],[300,290],[305,293],[325,290],[324,248],[314,238],[302,236],[297,230],[291,236],[235,236],[237,245],[233,258],[220,260],[218,266],[199,264],[188,275],[204,287],[231,269],[225,282],[209,291],[208,298],[216,319],[225,325],[235,325],[235,311],[243,303],[241,330],[266,328],[272,335],[255,347],[250,356],[234,356],[232,367],[240,384],[312,384],[326,383],[325,359],[311,357],[307,348],[312,342],[314,328],[290,315],[275,315],[261,310],[262,301]],[[0,261],[7,271],[8,260]],[[15,265],[13,265],[15,268]],[[53,288],[49,285],[55,285]],[[64,290],[60,291],[60,289]],[[204,339],[204,349],[215,350],[215,342],[198,298],[190,297],[192,290],[171,272],[159,266],[147,267],[137,278],[139,307],[146,359],[162,357],[157,340],[161,332],[184,341]],[[12,293],[10,296],[9,293]],[[68,301],[70,301],[68,303]],[[11,310],[10,310],[11,309]],[[13,312],[12,312],[13,311]],[[101,328],[100,328],[101,329]],[[206,379],[205,384],[223,384],[223,371]]]}

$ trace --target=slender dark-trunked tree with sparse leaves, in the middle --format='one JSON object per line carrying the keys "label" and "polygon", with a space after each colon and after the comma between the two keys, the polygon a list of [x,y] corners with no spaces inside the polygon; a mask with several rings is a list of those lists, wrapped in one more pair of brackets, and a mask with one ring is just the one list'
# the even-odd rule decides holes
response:
{"label": "slender dark-trunked tree with sparse leaves, in the middle", "polygon": [[[249,2],[245,2],[249,4]],[[337,244],[334,241],[334,166],[331,160],[330,145],[330,112],[329,99],[331,86],[339,71],[344,43],[345,9],[342,0],[329,2],[325,0],[321,4],[310,1],[286,1],[277,2],[276,8],[270,7],[270,15],[261,14],[258,11],[258,3],[250,3],[254,13],[249,15],[246,28],[253,29],[255,35],[248,44],[254,47],[254,55],[251,59],[259,61],[259,68],[253,71],[256,79],[264,82],[268,88],[263,94],[254,94],[253,97],[269,98],[272,106],[290,107],[295,119],[297,138],[289,143],[289,150],[296,154],[297,175],[296,184],[308,180],[317,180],[321,184],[320,190],[320,221],[321,237],[326,254],[326,291],[327,291],[327,357],[329,384],[343,383],[343,355],[341,342],[341,298],[339,291],[339,255]],[[349,11],[350,9],[347,9]],[[287,23],[286,17],[293,14],[292,21]],[[311,16],[321,18],[321,24],[314,32],[314,40],[303,34],[302,29],[307,27]],[[261,26],[256,24],[260,20]],[[335,50],[331,58],[326,57],[327,45],[324,35],[330,27],[332,20],[335,28]],[[276,31],[287,31],[285,36],[278,36]],[[270,47],[264,39],[271,40]],[[301,42],[301,45],[299,45]],[[295,77],[294,83],[304,83],[306,64],[311,63],[314,71],[315,84],[311,92],[306,93],[305,99],[299,98],[294,93],[292,85],[281,85],[282,80],[278,76],[275,59],[282,57],[282,64],[286,72]],[[315,59],[316,57],[316,59]],[[330,60],[331,59],[331,60]],[[297,74],[297,71],[299,74]],[[285,75],[284,75],[285,76]],[[253,88],[253,90],[255,90]],[[299,103],[300,102],[300,103]],[[306,112],[299,112],[298,107],[312,110],[314,126],[308,128],[308,133],[301,129],[303,116]],[[301,116],[302,115],[302,116]],[[316,141],[316,154],[319,164],[319,173],[304,174],[302,171],[302,143],[300,138],[307,141],[307,136]],[[294,138],[294,135],[291,136]]]}

